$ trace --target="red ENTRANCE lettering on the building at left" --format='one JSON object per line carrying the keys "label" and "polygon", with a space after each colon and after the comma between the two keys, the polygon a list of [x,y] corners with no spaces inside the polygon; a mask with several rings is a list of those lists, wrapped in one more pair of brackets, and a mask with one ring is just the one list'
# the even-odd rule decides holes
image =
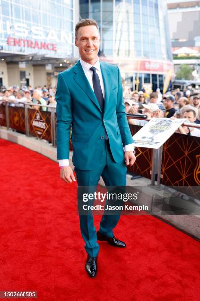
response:
{"label": "red ENTRANCE lettering on the building at left", "polygon": [[8,46],[19,46],[19,47],[28,47],[34,49],[37,48],[37,49],[57,51],[56,44],[53,43],[45,43],[45,42],[38,42],[38,41],[25,40],[25,39],[16,39],[13,37],[8,37]]}

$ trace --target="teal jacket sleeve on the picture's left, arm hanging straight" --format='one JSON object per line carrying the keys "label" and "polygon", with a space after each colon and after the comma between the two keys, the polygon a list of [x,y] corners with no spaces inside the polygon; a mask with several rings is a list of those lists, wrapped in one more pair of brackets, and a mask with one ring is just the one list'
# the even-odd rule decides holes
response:
{"label": "teal jacket sleeve on the picture's left, arm hanging straight", "polygon": [[71,95],[61,73],[56,89],[57,102],[57,159],[69,159],[70,129],[72,124]]}

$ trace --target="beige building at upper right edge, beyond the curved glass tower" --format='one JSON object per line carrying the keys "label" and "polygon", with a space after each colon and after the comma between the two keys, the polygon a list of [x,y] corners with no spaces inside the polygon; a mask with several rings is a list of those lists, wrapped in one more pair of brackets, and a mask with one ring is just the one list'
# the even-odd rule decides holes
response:
{"label": "beige building at upper right edge, beyond the curved glass tower", "polygon": [[167,0],[175,73],[186,64],[200,81],[200,1]]}

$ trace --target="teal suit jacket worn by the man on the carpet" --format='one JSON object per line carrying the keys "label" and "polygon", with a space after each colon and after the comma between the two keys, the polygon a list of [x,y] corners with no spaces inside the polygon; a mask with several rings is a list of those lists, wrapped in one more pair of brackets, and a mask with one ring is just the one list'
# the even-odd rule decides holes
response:
{"label": "teal suit jacket worn by the man on the carpet", "polygon": [[69,159],[70,128],[74,166],[93,170],[99,166],[105,130],[115,162],[124,160],[123,145],[133,143],[123,102],[119,68],[100,62],[105,86],[104,112],[88,82],[80,61],[58,75],[57,159]]}

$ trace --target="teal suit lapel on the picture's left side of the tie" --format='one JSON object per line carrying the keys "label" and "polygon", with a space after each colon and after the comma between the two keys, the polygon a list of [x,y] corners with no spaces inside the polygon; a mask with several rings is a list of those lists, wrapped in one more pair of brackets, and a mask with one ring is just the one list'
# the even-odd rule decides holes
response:
{"label": "teal suit lapel on the picture's left side of the tie", "polygon": [[[92,90],[90,83],[88,82],[88,79],[84,73],[84,70],[81,66],[80,61],[77,62],[77,64],[74,67],[74,80],[78,84],[78,86],[87,94],[87,96],[94,102],[94,104],[98,107],[98,109],[101,111],[99,102],[95,96],[94,91]],[[102,112],[102,111],[101,111]]]}

